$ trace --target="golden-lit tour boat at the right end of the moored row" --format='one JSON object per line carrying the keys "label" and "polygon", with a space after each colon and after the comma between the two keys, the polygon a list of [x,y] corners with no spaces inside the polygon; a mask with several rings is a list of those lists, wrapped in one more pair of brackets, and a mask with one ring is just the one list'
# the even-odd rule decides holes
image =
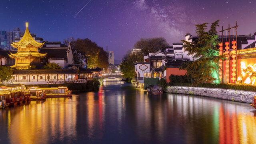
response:
{"label": "golden-lit tour boat at the right end of the moored row", "polygon": [[[31,89],[31,88],[29,88]],[[43,93],[45,93],[46,98],[58,98],[58,97],[72,97],[72,91],[68,90],[67,87],[52,87],[52,88],[35,88],[32,89],[40,89]]]}

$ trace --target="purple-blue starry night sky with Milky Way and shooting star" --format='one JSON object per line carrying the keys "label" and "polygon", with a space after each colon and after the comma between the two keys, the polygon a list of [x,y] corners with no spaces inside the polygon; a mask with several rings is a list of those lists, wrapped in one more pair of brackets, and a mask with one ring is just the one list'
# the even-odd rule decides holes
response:
{"label": "purple-blue starry night sky with Milky Way and shooting star", "polygon": [[204,22],[221,20],[226,29],[237,21],[238,34],[256,32],[255,0],[1,0],[0,16],[1,30],[24,30],[28,21],[37,37],[89,38],[117,60],[140,38],[164,37],[171,46]]}

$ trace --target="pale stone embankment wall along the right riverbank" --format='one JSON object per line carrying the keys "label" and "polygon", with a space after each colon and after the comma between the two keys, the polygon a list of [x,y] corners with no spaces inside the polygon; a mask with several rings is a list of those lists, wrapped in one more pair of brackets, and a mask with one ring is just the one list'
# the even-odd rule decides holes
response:
{"label": "pale stone embankment wall along the right riverbank", "polygon": [[198,96],[207,96],[212,98],[220,98],[225,100],[232,100],[237,102],[252,103],[256,92],[243,90],[230,90],[221,88],[200,88],[188,86],[168,86],[167,91],[177,94],[191,94]]}

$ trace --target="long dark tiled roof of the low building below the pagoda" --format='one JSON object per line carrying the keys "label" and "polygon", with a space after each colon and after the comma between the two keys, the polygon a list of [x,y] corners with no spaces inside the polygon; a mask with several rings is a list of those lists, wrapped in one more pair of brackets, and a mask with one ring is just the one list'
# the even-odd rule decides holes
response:
{"label": "long dark tiled roof of the low building below the pagoda", "polygon": [[13,75],[15,74],[76,74],[73,70],[13,70]]}

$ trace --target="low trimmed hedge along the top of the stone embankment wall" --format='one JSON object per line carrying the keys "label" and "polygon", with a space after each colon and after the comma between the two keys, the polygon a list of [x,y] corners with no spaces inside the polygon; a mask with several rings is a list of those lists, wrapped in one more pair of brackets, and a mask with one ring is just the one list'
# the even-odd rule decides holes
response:
{"label": "low trimmed hedge along the top of the stone embankment wall", "polygon": [[[191,83],[182,83],[178,82],[175,86],[192,86]],[[249,84],[198,84],[196,87],[204,87],[204,88],[222,88],[222,89],[232,89],[232,90],[246,90],[256,92],[256,85]]]}

